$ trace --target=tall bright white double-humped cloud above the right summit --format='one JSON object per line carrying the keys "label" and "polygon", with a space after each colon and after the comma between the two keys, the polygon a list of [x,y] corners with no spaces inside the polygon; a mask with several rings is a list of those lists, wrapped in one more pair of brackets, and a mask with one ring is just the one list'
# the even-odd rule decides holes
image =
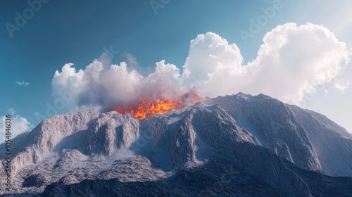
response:
{"label": "tall bright white double-humped cloud above the right summit", "polygon": [[263,42],[257,58],[244,65],[235,44],[211,32],[199,35],[191,41],[183,84],[196,81],[209,96],[242,91],[298,104],[343,72],[350,56],[345,44],[320,25],[280,25]]}

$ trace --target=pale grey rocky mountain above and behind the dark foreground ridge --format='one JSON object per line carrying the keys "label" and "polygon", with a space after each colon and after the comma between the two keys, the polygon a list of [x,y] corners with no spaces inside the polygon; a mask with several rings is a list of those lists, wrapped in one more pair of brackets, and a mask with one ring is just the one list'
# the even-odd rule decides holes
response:
{"label": "pale grey rocky mountain above and behind the dark foreground ridge", "polygon": [[[346,130],[324,115],[263,94],[219,96],[145,120],[115,111],[56,115],[13,139],[13,147],[13,186],[21,192],[99,177],[178,179],[180,170],[194,174],[215,161],[230,161],[284,196],[310,195],[310,181],[298,169],[352,177]],[[4,150],[1,144],[1,155]]]}

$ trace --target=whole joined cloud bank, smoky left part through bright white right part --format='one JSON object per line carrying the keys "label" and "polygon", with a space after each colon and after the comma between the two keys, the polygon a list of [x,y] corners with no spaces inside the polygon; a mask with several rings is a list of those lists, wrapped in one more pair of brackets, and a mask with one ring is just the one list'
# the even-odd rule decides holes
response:
{"label": "whole joined cloud bank, smoky left part through bright white right part", "polygon": [[160,61],[156,70],[144,77],[127,69],[128,62],[137,63],[127,54],[127,63],[120,65],[95,60],[77,71],[68,63],[61,72],[56,71],[52,86],[54,95],[69,92],[72,99],[68,103],[77,110],[111,110],[145,97],[170,98],[187,89],[210,97],[239,91],[263,93],[299,104],[306,94],[315,94],[318,87],[332,83],[344,72],[350,57],[344,42],[327,28],[287,23],[265,34],[258,56],[246,64],[236,44],[208,32],[191,40],[182,72],[176,65]]}

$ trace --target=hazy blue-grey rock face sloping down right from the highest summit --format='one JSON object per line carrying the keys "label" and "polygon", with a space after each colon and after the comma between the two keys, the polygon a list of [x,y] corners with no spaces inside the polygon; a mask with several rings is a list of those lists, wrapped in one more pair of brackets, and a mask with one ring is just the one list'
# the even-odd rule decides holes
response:
{"label": "hazy blue-grey rock face sloping down right from the highest summit", "polygon": [[306,170],[352,177],[352,135],[324,115],[263,94],[214,100],[276,155]]}

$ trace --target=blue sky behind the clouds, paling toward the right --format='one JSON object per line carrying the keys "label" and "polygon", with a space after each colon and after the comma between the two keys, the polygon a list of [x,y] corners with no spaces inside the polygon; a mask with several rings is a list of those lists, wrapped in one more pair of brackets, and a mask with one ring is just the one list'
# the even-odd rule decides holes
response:
{"label": "blue sky behind the clouds, paling toward the right", "polygon": [[[153,72],[156,62],[162,60],[176,65],[182,73],[191,40],[206,32],[236,44],[244,59],[243,65],[257,58],[267,32],[286,23],[322,25],[334,33],[339,42],[344,42],[346,49],[351,50],[352,46],[352,13],[348,9],[352,6],[351,1],[339,1],[338,4],[336,1],[288,0],[43,2],[0,2],[0,112],[3,115],[9,110],[14,113],[18,125],[22,125],[18,132],[37,125],[38,114],[50,116],[46,110],[48,105],[54,105],[51,82],[56,70],[61,72],[65,63],[74,63],[77,71],[84,70],[106,49],[118,51],[108,61],[113,64],[126,61],[127,67],[135,68],[146,77]],[[37,6],[32,15],[30,4]],[[267,16],[258,31],[251,32],[251,20],[257,21],[268,8],[275,8],[275,14],[270,18]],[[6,24],[16,25],[16,13],[30,17],[23,27],[8,30]],[[252,36],[244,39],[241,30]],[[329,90],[332,84],[327,83],[324,89],[318,89],[313,97],[306,99],[302,107],[323,113],[352,132],[348,120],[352,115],[351,102],[348,102],[352,98],[351,88],[348,88],[352,73],[348,65],[339,83],[343,93],[332,87]],[[347,87],[343,88],[344,85]],[[70,111],[72,109],[63,108],[56,113]]]}

